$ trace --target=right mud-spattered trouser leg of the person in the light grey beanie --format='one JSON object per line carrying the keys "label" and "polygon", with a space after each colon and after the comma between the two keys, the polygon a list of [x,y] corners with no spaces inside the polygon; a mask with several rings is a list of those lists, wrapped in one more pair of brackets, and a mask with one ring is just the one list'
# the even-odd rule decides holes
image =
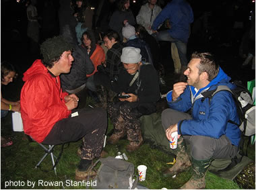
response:
{"label": "right mud-spattered trouser leg of the person in the light grey beanie", "polygon": [[125,102],[120,107],[121,117],[124,120],[125,129],[127,130],[127,139],[130,142],[141,142],[141,128],[139,117],[141,113],[137,111],[137,103]]}

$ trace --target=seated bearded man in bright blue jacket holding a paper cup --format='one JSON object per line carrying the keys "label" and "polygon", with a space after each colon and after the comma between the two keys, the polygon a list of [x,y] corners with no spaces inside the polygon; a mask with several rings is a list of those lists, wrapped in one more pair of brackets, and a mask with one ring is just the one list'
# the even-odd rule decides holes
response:
{"label": "seated bearded man in bright blue jacket holding a paper cup", "polygon": [[[173,85],[167,94],[170,109],[162,112],[162,126],[166,137],[178,132],[177,162],[164,171],[164,176],[172,176],[185,171],[192,165],[193,176],[181,189],[205,188],[205,173],[212,160],[233,158],[238,152],[241,132],[235,124],[239,123],[238,113],[232,94],[220,91],[211,101],[202,93],[216,89],[218,85],[229,83],[230,77],[215,62],[210,53],[193,53],[185,70],[187,83]],[[187,113],[189,112],[190,113]],[[190,145],[190,152],[185,149]],[[189,158],[191,157],[191,160]]]}

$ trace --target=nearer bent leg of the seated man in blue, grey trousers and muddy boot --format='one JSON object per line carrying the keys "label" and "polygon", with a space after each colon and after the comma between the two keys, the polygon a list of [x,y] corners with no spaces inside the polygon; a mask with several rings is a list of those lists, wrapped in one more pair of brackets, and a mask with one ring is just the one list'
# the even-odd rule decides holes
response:
{"label": "nearer bent leg of the seated man in blue, grey trousers and muddy boot", "polygon": [[234,158],[238,148],[231,144],[226,135],[220,138],[208,136],[183,136],[191,146],[193,175],[181,189],[204,189],[205,174],[213,159]]}

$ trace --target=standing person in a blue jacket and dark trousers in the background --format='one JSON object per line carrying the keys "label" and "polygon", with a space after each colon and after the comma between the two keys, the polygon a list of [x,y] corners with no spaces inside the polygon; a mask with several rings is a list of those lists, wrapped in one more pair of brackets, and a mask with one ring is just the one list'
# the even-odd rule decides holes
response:
{"label": "standing person in a blue jacket and dark trousers in the background", "polygon": [[[162,30],[153,36],[158,41],[174,42],[181,59],[181,79],[184,80],[183,71],[187,68],[187,42],[190,34],[190,24],[194,21],[193,10],[185,0],[172,0],[158,14],[152,25],[156,33],[158,27],[168,19],[170,29]],[[181,80],[180,79],[180,80]]]}

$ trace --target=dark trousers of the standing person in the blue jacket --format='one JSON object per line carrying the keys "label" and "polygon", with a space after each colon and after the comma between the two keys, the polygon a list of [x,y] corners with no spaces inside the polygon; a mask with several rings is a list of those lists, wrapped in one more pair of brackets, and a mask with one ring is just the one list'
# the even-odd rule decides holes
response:
{"label": "dark trousers of the standing person in the blue jacket", "polygon": [[177,46],[179,57],[181,59],[181,64],[183,66],[187,66],[187,43],[181,42],[181,40],[177,40],[170,36],[168,30],[162,30],[158,33],[152,34],[156,40],[159,41],[167,41],[167,42],[174,42]]}

